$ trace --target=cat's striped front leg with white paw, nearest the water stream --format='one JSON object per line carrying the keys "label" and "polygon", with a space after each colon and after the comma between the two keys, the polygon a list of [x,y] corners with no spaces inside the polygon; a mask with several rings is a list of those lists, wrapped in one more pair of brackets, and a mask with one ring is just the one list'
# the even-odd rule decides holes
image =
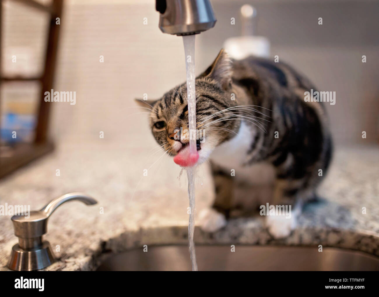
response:
{"label": "cat's striped front leg with white paw, nearest the water stream", "polygon": [[232,206],[233,177],[230,172],[212,165],[212,174],[216,198],[211,208],[203,209],[199,214],[200,228],[206,232],[215,232],[225,227]]}

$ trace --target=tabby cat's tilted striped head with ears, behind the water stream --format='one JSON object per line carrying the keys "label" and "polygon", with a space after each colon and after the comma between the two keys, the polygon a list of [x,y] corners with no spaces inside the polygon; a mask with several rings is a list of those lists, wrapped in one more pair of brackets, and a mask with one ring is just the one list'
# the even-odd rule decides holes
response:
{"label": "tabby cat's tilted striped head with ears, behind the water stream", "polygon": [[[196,86],[196,129],[198,163],[208,159],[215,147],[232,138],[240,125],[233,113],[225,110],[236,106],[232,95],[232,65],[224,50],[200,74]],[[155,137],[166,152],[177,155],[189,145],[186,83],[168,91],[158,100],[136,99],[150,109],[149,123]],[[182,133],[180,132],[182,131]]]}

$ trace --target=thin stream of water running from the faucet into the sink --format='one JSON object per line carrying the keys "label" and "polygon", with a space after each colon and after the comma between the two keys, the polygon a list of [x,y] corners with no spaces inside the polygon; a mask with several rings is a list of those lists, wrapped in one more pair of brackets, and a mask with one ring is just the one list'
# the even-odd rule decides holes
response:
{"label": "thin stream of water running from the faucet into the sink", "polygon": [[[183,36],[183,45],[186,61],[187,74],[187,100],[188,100],[188,125],[189,134],[196,131],[196,97],[195,97],[195,35]],[[196,135],[196,133],[195,133]],[[189,139],[189,156],[197,154],[196,138]],[[191,257],[192,271],[197,271],[195,244],[193,241],[195,228],[195,167],[187,167],[188,197],[189,197],[189,222],[188,222],[188,242],[189,255]]]}

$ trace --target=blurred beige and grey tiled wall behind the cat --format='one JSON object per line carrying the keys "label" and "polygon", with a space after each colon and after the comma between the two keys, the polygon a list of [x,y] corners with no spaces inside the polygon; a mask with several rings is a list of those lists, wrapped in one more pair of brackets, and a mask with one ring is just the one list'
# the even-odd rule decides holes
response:
{"label": "blurred beige and grey tiled wall behind the cat", "polygon": [[[336,92],[336,104],[327,106],[335,142],[362,142],[363,130],[367,142],[377,142],[379,4],[212,1],[218,22],[197,35],[197,73],[213,61],[226,38],[240,34],[238,9],[246,2],[258,10],[257,34],[269,38],[272,56],[279,55],[320,90]],[[75,91],[77,99],[75,105],[54,105],[50,133],[56,139],[83,140],[105,131],[106,138],[121,142],[149,135],[147,114],[136,114],[140,110],[133,99],[144,93],[158,98],[185,81],[182,38],[160,32],[154,1],[64,3],[54,88]],[[21,47],[34,57],[31,65],[38,71],[47,18],[19,3],[4,5],[3,65],[9,65],[11,49]],[[230,25],[231,17],[236,17],[236,25]],[[323,17],[323,25],[317,24],[318,17]],[[99,62],[101,55],[104,63]],[[362,63],[362,55],[367,63]]]}

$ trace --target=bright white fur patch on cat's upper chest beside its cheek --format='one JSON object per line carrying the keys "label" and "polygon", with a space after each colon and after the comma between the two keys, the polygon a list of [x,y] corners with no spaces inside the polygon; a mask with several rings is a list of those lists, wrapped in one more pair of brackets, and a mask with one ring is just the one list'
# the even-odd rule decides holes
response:
{"label": "bright white fur patch on cat's upper chest beside its cheek", "polygon": [[234,169],[246,162],[246,153],[251,147],[256,131],[252,131],[245,122],[241,122],[238,135],[218,145],[210,158],[224,168]]}

